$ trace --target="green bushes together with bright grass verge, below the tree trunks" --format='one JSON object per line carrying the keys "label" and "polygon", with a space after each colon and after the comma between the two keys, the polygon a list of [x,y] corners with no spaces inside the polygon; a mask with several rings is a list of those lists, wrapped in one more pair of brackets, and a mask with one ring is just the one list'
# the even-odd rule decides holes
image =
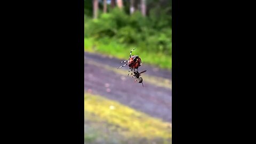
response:
{"label": "green bushes together with bright grass verge, below the tree trunks", "polygon": [[[99,11],[99,18],[84,17],[85,51],[96,51],[127,59],[135,47],[142,62],[171,69],[172,17],[171,7],[155,6],[143,17],[118,7]],[[93,49],[94,47],[94,49]],[[120,54],[123,53],[123,54]],[[141,55],[142,54],[142,55]],[[147,57],[147,58],[146,58]]]}

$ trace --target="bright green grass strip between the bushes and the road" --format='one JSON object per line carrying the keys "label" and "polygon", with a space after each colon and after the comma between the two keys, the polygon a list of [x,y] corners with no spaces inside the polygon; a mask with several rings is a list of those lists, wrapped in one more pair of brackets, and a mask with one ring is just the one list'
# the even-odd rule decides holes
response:
{"label": "bright green grass strip between the bushes and the road", "polygon": [[99,41],[95,41],[93,38],[84,38],[84,51],[107,54],[122,60],[129,58],[130,51],[134,48],[136,48],[136,50],[134,50],[132,54],[139,55],[142,59],[142,63],[148,63],[160,68],[172,68],[171,55],[153,53],[150,52],[150,50],[142,51],[138,46],[127,46],[125,44],[111,41],[111,39],[108,38],[101,39]]}

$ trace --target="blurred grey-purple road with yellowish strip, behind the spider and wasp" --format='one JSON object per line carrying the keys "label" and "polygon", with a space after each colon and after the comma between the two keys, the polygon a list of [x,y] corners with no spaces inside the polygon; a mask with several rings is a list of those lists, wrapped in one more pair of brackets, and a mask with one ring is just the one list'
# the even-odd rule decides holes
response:
{"label": "blurred grey-purple road with yellowish strip, behind the spider and wasp", "polygon": [[[84,53],[84,90],[116,100],[153,117],[172,122],[172,73],[142,63],[139,71],[147,70],[142,87],[127,77],[128,67],[122,60],[99,54]],[[142,59],[143,62],[143,59]],[[147,79],[146,79],[147,78]]]}

